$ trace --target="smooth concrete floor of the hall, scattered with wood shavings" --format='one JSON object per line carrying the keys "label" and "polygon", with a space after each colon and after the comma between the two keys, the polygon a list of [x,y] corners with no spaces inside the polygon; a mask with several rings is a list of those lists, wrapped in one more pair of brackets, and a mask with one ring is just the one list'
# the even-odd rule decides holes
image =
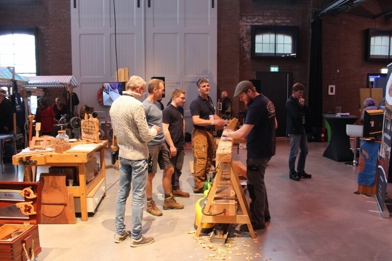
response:
{"label": "smooth concrete floor of the hall, scattered with wood shavings", "polygon": [[[208,237],[195,239],[195,202],[199,194],[177,198],[185,204],[183,210],[163,211],[156,217],[145,212],[143,233],[155,237],[155,242],[131,248],[129,239],[120,244],[113,241],[114,212],[118,191],[118,176],[114,169],[106,171],[107,196],[97,213],[87,222],[77,218],[74,225],[39,225],[42,252],[38,261],[65,260],[275,260],[275,261],[384,261],[392,259],[392,219],[382,218],[374,198],[354,194],[357,190],[358,167],[346,166],[322,157],[326,142],[309,143],[306,171],[312,179],[292,181],[288,175],[289,140],[277,142],[276,155],[266,171],[271,221],[265,230],[257,231],[257,240],[248,234],[232,230],[226,246],[208,242]],[[233,152],[236,160],[245,162],[246,151]],[[193,176],[189,161],[192,150],[186,150],[181,176],[181,188],[192,192]],[[110,164],[109,151],[106,157]],[[23,179],[22,167],[6,165],[0,180]],[[38,172],[45,172],[39,168]],[[161,171],[159,171],[161,173]],[[162,186],[156,175],[153,198],[163,205]],[[391,187],[388,194],[391,194]],[[131,226],[130,199],[127,201],[125,222]],[[162,208],[161,208],[162,209]],[[187,234],[190,232],[190,234]],[[210,256],[214,255],[214,256]]]}

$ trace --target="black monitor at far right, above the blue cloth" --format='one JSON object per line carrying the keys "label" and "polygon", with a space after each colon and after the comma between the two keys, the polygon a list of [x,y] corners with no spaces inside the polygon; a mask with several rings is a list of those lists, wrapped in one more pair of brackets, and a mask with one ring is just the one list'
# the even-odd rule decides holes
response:
{"label": "black monitor at far right, above the blue cloth", "polygon": [[384,110],[367,110],[364,115],[364,138],[383,133]]}

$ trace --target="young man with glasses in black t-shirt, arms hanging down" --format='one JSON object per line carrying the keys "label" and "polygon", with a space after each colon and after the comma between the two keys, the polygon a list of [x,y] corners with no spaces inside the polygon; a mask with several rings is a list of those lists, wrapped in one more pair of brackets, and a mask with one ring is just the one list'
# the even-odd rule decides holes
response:
{"label": "young man with glasses in black t-shirt, arms hanging down", "polygon": [[170,150],[174,173],[172,174],[172,194],[177,197],[189,197],[189,193],[180,189],[179,179],[184,164],[185,145],[185,92],[174,89],[172,102],[162,112],[162,127],[166,144]]}

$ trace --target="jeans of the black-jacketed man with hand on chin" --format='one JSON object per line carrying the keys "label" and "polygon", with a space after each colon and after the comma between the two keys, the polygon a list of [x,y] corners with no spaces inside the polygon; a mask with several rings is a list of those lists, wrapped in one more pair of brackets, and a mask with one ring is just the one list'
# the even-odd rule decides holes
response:
{"label": "jeans of the black-jacketed man with hand on chin", "polygon": [[[290,137],[290,154],[289,170],[290,174],[301,173],[305,171],[306,155],[308,155],[308,140],[305,131],[302,134],[289,134]],[[295,171],[295,160],[298,155],[297,171]]]}

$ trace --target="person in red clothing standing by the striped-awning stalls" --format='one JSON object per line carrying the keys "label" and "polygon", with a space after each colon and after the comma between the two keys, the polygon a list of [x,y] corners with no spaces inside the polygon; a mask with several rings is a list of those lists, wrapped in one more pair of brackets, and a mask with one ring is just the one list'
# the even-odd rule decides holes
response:
{"label": "person in red clothing standing by the striped-awning stalls", "polygon": [[40,105],[37,107],[35,119],[37,122],[41,122],[41,135],[53,135],[55,115],[52,107],[49,106],[49,97],[39,98],[39,103]]}

